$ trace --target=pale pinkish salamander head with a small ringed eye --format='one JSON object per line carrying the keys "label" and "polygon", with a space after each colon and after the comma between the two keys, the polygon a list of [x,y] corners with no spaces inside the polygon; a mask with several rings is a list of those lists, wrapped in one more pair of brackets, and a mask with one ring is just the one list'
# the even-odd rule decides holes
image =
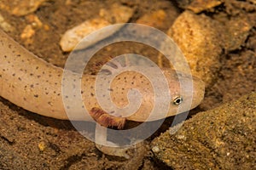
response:
{"label": "pale pinkish salamander head with a small ringed eye", "polygon": [[[109,88],[111,101],[109,98],[104,100],[105,108],[109,108],[108,112],[113,116],[125,117],[136,122],[159,120],[195,108],[204,97],[204,82],[197,77],[189,77],[185,73],[171,69],[162,69],[159,72],[154,67],[131,68],[114,76]],[[114,71],[110,70],[111,72]],[[104,80],[111,79],[104,75]],[[102,88],[100,94],[108,92],[107,88]],[[115,106],[112,107],[113,104]]]}

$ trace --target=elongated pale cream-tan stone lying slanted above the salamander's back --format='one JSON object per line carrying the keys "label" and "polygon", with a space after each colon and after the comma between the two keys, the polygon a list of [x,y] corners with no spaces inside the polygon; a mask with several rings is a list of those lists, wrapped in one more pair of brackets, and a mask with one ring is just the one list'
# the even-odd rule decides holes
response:
{"label": "elongated pale cream-tan stone lying slanted above the salamander's back", "polygon": [[[75,26],[72,29],[66,31],[61,37],[61,49],[65,52],[72,51],[84,37],[93,31],[97,31],[105,26],[111,26],[117,23],[125,23],[131,18],[133,12],[134,10],[132,8],[116,3],[114,3],[110,9],[102,9],[99,16],[96,16],[90,20],[85,20],[79,26]],[[93,45],[96,42],[111,36],[114,32],[118,31],[119,28],[120,26],[117,26],[116,29],[108,31],[108,34],[96,35],[93,37],[93,39],[90,39],[90,41],[87,41],[84,44],[79,44],[79,47],[76,49],[87,48],[90,45]]]}

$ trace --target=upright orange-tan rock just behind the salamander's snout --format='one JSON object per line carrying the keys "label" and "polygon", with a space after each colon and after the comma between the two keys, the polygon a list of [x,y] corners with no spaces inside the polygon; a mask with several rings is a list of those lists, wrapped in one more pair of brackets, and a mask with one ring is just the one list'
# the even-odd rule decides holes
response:
{"label": "upright orange-tan rock just behind the salamander's snout", "polygon": [[[223,38],[219,30],[222,29],[218,21],[204,14],[185,11],[178,16],[167,33],[181,48],[192,75],[200,77],[206,83],[206,88],[216,81],[220,67]],[[182,62],[178,64],[183,65]]]}

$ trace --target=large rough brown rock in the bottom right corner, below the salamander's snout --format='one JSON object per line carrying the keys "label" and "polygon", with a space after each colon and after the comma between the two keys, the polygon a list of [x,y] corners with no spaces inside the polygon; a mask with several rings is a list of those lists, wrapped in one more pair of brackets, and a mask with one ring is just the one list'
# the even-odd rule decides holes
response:
{"label": "large rough brown rock in the bottom right corner, below the salamander's snout", "polygon": [[154,139],[154,155],[173,169],[255,169],[256,93],[200,112]]}

